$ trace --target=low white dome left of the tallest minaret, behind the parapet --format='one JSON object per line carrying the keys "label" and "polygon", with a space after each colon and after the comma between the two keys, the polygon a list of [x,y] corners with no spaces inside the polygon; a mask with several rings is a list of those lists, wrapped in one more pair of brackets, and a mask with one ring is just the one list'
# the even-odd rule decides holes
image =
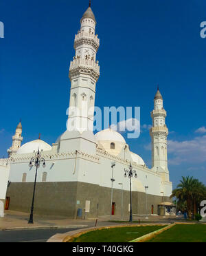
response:
{"label": "low white dome left of the tallest minaret, behind the parapet", "polygon": [[33,140],[22,145],[16,154],[34,153],[36,151],[50,151],[52,147],[43,140]]}

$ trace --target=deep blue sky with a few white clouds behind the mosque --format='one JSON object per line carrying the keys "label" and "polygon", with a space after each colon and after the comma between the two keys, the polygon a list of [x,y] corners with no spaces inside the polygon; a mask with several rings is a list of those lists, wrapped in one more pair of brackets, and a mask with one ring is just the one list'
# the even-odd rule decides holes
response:
{"label": "deep blue sky with a few white clouds behind the mosque", "polygon": [[[0,157],[20,118],[23,142],[41,133],[52,144],[65,131],[73,39],[88,3],[1,1]],[[206,184],[205,0],[93,0],[91,7],[100,38],[95,105],[141,107],[141,136],[127,142],[150,166],[147,127],[159,84],[168,111],[170,180],[176,186],[182,175],[193,175]]]}

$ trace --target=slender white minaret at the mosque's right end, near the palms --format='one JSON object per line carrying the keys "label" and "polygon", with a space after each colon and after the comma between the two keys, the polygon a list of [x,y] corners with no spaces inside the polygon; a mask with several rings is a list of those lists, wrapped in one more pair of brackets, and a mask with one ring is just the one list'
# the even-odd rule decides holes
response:
{"label": "slender white minaret at the mosque's right end, near the palms", "polygon": [[154,110],[151,112],[152,128],[152,169],[158,173],[164,173],[163,180],[169,181],[168,171],[168,128],[165,125],[167,113],[163,109],[163,98],[159,92],[159,86],[154,98]]}

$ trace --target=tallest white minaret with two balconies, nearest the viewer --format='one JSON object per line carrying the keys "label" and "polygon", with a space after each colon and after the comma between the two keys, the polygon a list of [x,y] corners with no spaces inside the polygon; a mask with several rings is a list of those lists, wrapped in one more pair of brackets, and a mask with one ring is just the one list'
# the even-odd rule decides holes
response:
{"label": "tallest white minaret with two balconies, nearest the viewer", "polygon": [[95,35],[96,20],[91,1],[80,24],[74,40],[76,54],[69,68],[71,91],[67,129],[75,127],[82,133],[85,130],[93,132],[95,86],[100,76],[100,66],[96,61],[100,39]]}

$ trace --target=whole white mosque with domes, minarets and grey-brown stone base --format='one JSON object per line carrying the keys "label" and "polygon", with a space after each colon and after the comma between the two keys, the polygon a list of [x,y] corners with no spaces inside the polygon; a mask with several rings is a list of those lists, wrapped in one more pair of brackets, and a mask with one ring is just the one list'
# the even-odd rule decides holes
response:
{"label": "whole white mosque with domes, minarets and grey-brown stone base", "polygon": [[[69,106],[82,109],[84,103],[94,107],[95,85],[100,76],[100,66],[96,61],[100,40],[95,35],[96,20],[90,5],[80,24],[74,41],[76,54],[69,69]],[[124,169],[128,169],[130,163],[137,171],[137,178],[132,178],[133,214],[162,214],[159,211],[161,205],[167,205],[166,214],[173,213],[167,158],[168,128],[159,89],[151,117],[151,169],[140,156],[130,151],[124,137],[113,129],[108,128],[95,135],[93,129],[67,129],[52,147],[40,138],[21,146],[20,122],[12,137],[12,147],[8,149],[9,158],[0,160],[0,216],[3,216],[3,209],[30,212],[36,166],[32,162],[29,167],[29,163],[38,150],[46,166],[43,168],[41,164],[38,168],[34,213],[71,218],[84,215],[98,217],[110,215],[111,212],[113,215],[123,213],[128,216],[130,182],[129,178],[124,178]],[[91,113],[74,116],[69,113],[68,126],[74,120],[78,120],[80,126],[88,120],[89,126],[93,127]],[[115,162],[114,181],[111,181],[111,162]]]}

